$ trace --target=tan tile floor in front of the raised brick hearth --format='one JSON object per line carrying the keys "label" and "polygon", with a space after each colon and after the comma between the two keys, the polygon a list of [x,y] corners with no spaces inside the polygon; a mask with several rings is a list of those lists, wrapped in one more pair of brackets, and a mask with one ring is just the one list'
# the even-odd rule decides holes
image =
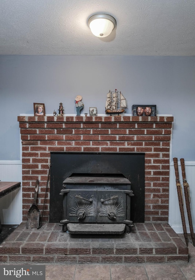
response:
{"label": "tan tile floor in front of the raised brick hearth", "polygon": [[[184,240],[183,235],[179,235]],[[194,280],[195,247],[190,242],[189,262],[178,264],[49,264],[46,280]]]}

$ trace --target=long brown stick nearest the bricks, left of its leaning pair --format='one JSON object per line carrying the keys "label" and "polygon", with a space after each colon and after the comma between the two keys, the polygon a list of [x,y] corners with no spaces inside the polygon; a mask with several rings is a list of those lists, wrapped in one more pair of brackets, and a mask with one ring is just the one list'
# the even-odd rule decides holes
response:
{"label": "long brown stick nearest the bricks, left of its leaning pair", "polygon": [[185,240],[186,240],[186,246],[188,246],[186,221],[185,221],[184,210],[183,210],[182,186],[179,182],[179,171],[178,171],[177,158],[173,158],[173,162],[174,162],[175,175],[176,175],[176,187],[177,187],[177,195],[178,195],[178,200],[179,200],[179,209],[180,209],[181,219],[182,219],[183,234],[184,234],[184,237],[185,237]]}

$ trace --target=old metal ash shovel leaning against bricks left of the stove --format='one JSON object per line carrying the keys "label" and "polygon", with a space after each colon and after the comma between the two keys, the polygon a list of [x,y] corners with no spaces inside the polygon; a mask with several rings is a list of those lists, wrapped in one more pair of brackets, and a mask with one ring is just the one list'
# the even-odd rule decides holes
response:
{"label": "old metal ash shovel leaning against bricks left of the stove", "polygon": [[40,212],[39,209],[37,208],[38,187],[39,187],[39,180],[36,181],[33,204],[30,207],[27,215],[27,229],[35,229],[39,227]]}

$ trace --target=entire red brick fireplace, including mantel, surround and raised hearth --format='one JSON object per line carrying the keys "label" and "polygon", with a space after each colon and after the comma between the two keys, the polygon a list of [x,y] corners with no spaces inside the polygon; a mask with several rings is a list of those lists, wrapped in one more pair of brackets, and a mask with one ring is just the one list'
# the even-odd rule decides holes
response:
{"label": "entire red brick fireplace, including mantel, surround and raised hearth", "polygon": [[[173,117],[18,117],[22,138],[23,222],[0,245],[0,263],[187,262],[188,248],[168,225]],[[144,152],[145,222],[122,235],[69,234],[49,223],[49,189],[40,229],[27,229],[35,181],[41,210],[50,152]],[[41,213],[42,214],[42,213]]]}

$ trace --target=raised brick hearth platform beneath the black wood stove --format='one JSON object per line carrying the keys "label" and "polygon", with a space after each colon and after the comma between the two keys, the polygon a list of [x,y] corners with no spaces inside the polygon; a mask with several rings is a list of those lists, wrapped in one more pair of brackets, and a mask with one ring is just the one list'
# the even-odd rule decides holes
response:
{"label": "raised brick hearth platform beneath the black wood stove", "polygon": [[127,264],[188,262],[188,247],[168,223],[135,223],[122,235],[71,235],[59,223],[22,222],[0,244],[0,263]]}

